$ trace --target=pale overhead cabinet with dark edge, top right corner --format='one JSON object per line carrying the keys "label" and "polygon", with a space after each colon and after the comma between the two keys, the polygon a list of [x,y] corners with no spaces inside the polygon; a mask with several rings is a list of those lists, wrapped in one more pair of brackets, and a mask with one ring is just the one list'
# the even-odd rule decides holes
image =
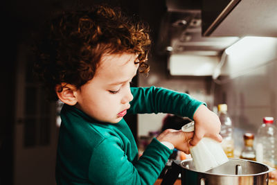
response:
{"label": "pale overhead cabinet with dark edge, top right corner", "polygon": [[277,37],[276,0],[203,0],[203,36]]}

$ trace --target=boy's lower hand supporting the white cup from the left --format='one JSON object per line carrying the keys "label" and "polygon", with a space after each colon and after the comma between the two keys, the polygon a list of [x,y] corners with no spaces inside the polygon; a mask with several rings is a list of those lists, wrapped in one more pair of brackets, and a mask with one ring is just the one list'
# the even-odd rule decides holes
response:
{"label": "boy's lower hand supporting the white cup from the left", "polygon": [[190,154],[189,141],[192,138],[193,132],[183,132],[182,130],[173,129],[167,129],[157,136],[158,141],[168,141],[172,143],[175,148],[186,154]]}

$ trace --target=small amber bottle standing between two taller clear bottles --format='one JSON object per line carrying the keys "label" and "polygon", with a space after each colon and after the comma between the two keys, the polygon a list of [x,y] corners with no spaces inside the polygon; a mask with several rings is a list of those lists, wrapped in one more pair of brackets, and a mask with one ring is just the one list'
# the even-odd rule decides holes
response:
{"label": "small amber bottle standing between two taller clear bottles", "polygon": [[245,133],[243,135],[243,139],[244,139],[244,148],[242,149],[240,158],[256,161],[256,151],[253,148],[254,134]]}

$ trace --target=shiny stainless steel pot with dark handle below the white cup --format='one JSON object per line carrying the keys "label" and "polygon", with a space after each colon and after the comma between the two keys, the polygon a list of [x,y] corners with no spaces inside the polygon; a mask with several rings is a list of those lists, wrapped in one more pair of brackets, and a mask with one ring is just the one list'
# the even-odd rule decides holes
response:
{"label": "shiny stainless steel pot with dark handle below the white cup", "polygon": [[174,184],[181,173],[182,185],[265,185],[273,168],[246,159],[229,158],[221,166],[201,173],[195,170],[193,159],[173,161],[161,185]]}

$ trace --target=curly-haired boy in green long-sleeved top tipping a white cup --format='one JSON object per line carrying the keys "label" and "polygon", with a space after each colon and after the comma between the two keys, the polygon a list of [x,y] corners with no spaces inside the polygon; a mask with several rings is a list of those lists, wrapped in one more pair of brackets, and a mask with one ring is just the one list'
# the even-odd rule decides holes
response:
{"label": "curly-haired boy in green long-sleeved top tipping a white cup", "polygon": [[[57,184],[154,184],[173,148],[188,154],[204,135],[221,141],[220,121],[204,103],[168,89],[130,87],[138,69],[149,71],[144,24],[95,6],[65,12],[50,28],[35,71],[50,97],[64,103]],[[138,159],[123,116],[158,112],[193,118],[195,134],[166,130]]]}

